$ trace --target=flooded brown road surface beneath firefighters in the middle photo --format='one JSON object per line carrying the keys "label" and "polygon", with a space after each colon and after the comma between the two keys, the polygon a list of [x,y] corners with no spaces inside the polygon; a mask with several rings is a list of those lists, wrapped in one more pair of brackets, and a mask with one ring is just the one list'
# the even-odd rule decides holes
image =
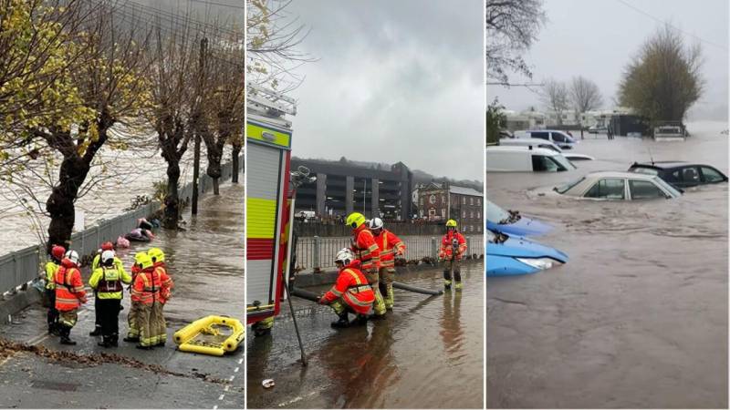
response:
{"label": "flooded brown road surface beneath firefighters in the middle photo", "polygon": [[[248,340],[248,408],[481,408],[484,264],[464,264],[464,291],[428,298],[395,290],[386,320],[336,331],[331,309],[295,298],[309,365],[288,310],[270,336]],[[440,270],[398,279],[443,286]],[[273,378],[265,390],[261,382]]]}

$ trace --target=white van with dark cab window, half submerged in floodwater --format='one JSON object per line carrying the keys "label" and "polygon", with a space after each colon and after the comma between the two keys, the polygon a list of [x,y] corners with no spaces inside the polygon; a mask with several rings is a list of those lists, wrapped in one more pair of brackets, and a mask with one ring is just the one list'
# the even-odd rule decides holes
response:
{"label": "white van with dark cab window, half submerged in floodwater", "polygon": [[486,170],[495,172],[558,172],[576,169],[562,154],[551,149],[487,147]]}

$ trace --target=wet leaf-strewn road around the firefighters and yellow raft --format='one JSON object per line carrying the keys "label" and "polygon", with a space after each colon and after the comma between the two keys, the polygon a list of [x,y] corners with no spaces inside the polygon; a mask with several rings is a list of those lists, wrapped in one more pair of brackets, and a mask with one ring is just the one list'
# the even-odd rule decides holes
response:
{"label": "wet leaf-strewn road around the firefighters and yellow raft", "polygon": [[[244,319],[243,195],[243,185],[222,185],[219,197],[202,197],[196,218],[188,210],[187,231],[158,231],[151,242],[165,251],[175,282],[172,300],[165,306],[169,337],[164,348],[140,351],[121,341],[117,349],[97,346],[98,339],[88,336],[93,329],[93,300],[83,307],[71,333],[78,345],[61,346],[57,338],[44,334],[45,309],[32,306],[14,318],[16,324],[0,326],[0,334],[92,357],[100,364],[73,364],[28,353],[8,356],[0,349],[0,407],[243,408],[243,345],[234,354],[214,357],[177,352],[172,342],[172,333],[208,314]],[[134,252],[147,249],[135,245],[120,251],[127,269]],[[127,332],[129,293],[125,296],[120,334]],[[164,371],[120,364],[99,353],[160,364]]]}

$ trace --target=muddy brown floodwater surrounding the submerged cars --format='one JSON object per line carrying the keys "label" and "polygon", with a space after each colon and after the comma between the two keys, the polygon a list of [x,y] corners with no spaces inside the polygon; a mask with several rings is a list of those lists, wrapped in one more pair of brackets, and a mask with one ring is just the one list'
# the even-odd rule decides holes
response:
{"label": "muddy brown floodwater surrounding the submerged cars", "polygon": [[570,257],[489,279],[487,407],[727,407],[727,184],[645,202],[539,195],[650,152],[727,173],[726,128],[690,124],[686,142],[587,136],[574,151],[599,160],[577,170],[487,173],[489,199],[554,225],[538,241]]}

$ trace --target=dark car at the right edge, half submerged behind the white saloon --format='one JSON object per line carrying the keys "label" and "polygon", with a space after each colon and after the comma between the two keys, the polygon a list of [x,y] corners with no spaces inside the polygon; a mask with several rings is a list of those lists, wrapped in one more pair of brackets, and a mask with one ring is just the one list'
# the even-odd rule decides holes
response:
{"label": "dark car at the right edge, half submerged behind the white saloon", "polygon": [[727,182],[727,176],[714,167],[683,161],[634,162],[629,172],[656,175],[679,188]]}

